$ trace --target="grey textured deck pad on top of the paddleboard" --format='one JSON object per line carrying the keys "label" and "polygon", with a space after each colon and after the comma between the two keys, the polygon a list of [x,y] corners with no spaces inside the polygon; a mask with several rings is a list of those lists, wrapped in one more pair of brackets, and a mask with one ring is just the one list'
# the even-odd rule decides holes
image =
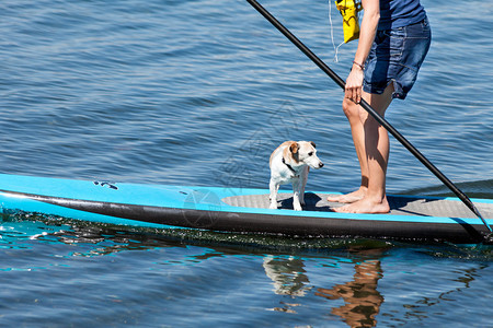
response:
{"label": "grey textured deck pad on top of the paddleboard", "polygon": [[[303,211],[330,212],[331,209],[344,206],[330,202],[326,197],[331,194],[305,194]],[[449,199],[429,199],[412,196],[388,196],[391,215],[421,215],[444,218],[477,218],[474,213],[461,201]],[[268,195],[241,195],[221,199],[227,204],[242,208],[268,209]],[[293,210],[293,192],[277,195],[278,209]],[[486,219],[493,219],[493,209],[483,203],[475,203],[478,210]]]}

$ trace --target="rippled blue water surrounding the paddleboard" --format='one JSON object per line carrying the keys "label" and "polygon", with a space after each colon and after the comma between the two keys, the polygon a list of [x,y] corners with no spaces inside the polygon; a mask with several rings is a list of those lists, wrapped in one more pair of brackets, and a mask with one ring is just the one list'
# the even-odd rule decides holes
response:
{"label": "rippled blue water surrounding the paddleboard", "polygon": [[[262,2],[334,62],[326,1]],[[493,199],[493,7],[423,0],[433,44],[388,120],[471,197]],[[479,10],[478,10],[479,9]],[[342,93],[245,1],[4,0],[2,173],[266,188],[280,142],[359,183]],[[334,43],[342,42],[332,8]],[[392,140],[389,192],[450,195]],[[4,215],[4,327],[486,327],[485,246],[154,231]]]}

